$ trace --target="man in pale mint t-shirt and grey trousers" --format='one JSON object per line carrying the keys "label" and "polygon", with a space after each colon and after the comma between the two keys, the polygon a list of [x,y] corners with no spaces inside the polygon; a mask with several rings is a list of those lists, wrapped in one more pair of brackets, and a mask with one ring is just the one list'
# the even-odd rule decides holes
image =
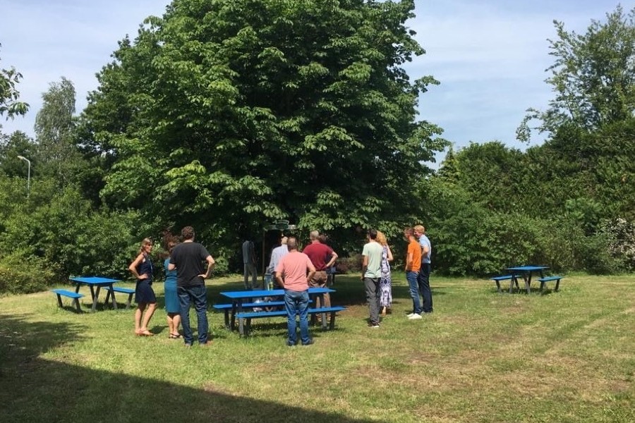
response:
{"label": "man in pale mint t-shirt and grey trousers", "polygon": [[377,243],[377,231],[370,229],[368,231],[368,243],[364,244],[362,250],[362,276],[366,291],[366,300],[368,300],[368,311],[370,319],[368,327],[379,327],[379,309],[380,309],[380,278],[382,277],[382,252],[383,248]]}

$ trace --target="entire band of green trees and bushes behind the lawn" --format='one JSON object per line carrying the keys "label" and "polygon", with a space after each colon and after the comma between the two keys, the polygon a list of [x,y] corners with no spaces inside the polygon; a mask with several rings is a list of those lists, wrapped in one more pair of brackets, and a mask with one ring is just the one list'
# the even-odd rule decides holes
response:
{"label": "entire band of green trees and bushes behind the lawn", "polygon": [[[0,291],[127,276],[138,240],[186,224],[231,271],[241,240],[278,219],[351,255],[369,227],[399,251],[402,228],[425,223],[443,274],[632,270],[635,9],[583,35],[555,23],[556,98],[519,127],[548,137],[526,152],[454,151],[417,120],[438,81],[402,68],[424,52],[413,13],[412,0],[174,0],[147,18],[78,116],[61,78],[35,140],[0,132]],[[27,113],[19,73],[2,72],[0,115]]]}

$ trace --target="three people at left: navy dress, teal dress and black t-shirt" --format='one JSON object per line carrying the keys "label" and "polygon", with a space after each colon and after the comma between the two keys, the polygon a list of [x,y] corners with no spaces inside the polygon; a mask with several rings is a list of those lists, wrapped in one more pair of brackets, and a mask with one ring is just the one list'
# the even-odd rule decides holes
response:
{"label": "three people at left: navy dress, teal dress and black t-shirt", "polygon": [[[194,341],[190,326],[190,305],[193,303],[198,319],[198,343],[208,345],[207,339],[207,289],[205,279],[210,277],[214,268],[214,259],[200,243],[194,242],[194,229],[186,226],[181,230],[182,242],[172,240],[168,243],[169,257],[164,261],[165,270],[165,307],[169,338],[183,338],[185,345],[191,347]],[[135,334],[152,336],[147,325],[157,308],[157,298],[152,290],[152,240],[145,238],[141,243],[138,256],[128,269],[137,279],[135,286]],[[203,263],[207,263],[207,270]],[[144,314],[145,312],[145,314]],[[183,336],[179,333],[179,324],[183,326]]]}

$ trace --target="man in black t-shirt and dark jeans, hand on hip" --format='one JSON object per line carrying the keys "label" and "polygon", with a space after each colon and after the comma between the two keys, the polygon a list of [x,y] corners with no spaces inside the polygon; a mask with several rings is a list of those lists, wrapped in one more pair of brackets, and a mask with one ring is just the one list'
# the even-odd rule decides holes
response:
{"label": "man in black t-shirt and dark jeans, hand on hip", "polygon": [[[208,345],[205,279],[210,277],[215,262],[205,247],[194,242],[194,228],[186,226],[181,230],[181,236],[183,243],[176,245],[172,250],[168,269],[176,269],[176,293],[179,295],[181,304],[183,339],[186,347],[192,346],[194,337],[190,327],[190,303],[194,302],[196,317],[198,317],[198,343]],[[205,273],[203,273],[202,262],[207,262]]]}

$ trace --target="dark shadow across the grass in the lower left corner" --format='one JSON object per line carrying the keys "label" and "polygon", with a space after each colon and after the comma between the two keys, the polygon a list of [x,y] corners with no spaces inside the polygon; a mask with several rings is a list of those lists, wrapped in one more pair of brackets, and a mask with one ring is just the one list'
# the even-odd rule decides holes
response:
{"label": "dark shadow across the grass in the lower left corner", "polygon": [[[2,422],[371,422],[234,396],[212,380],[201,388],[157,381],[143,357],[139,364],[147,367],[147,378],[116,368],[88,369],[80,363],[40,358],[44,352],[82,341],[85,329],[80,324],[1,317]],[[303,381],[290,381],[283,388],[302,385]]]}

